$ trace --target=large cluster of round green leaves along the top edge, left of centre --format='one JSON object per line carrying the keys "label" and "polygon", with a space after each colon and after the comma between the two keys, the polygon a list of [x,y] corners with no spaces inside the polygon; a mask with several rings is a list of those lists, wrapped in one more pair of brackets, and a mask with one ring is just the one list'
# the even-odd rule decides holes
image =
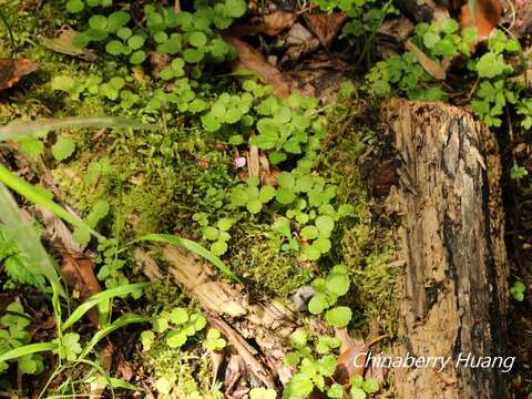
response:
{"label": "large cluster of round green leaves along the top edge, left of centre", "polygon": [[[66,9],[74,13],[83,12],[81,7]],[[197,2],[194,12],[178,13],[172,7],[145,4],[145,29],[130,28],[132,18],[126,10],[109,16],[93,14],[89,19],[89,29],[75,38],[74,44],[85,48],[94,42],[104,42],[109,54],[126,57],[133,65],[146,60],[147,49],[181,57],[178,60],[190,64],[202,61],[219,63],[232,57],[233,50],[216,30],[228,28],[246,10],[243,0],[225,0],[212,6]]]}

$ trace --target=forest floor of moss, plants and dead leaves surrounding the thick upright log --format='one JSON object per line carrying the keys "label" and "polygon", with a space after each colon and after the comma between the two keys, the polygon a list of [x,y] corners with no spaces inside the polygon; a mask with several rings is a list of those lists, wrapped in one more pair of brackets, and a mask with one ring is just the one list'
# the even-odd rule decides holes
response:
{"label": "forest floor of moss, plants and dead leaves surrounding the thick upright log", "polygon": [[0,396],[395,397],[390,96],[499,139],[532,393],[531,10],[407,3],[3,0]]}

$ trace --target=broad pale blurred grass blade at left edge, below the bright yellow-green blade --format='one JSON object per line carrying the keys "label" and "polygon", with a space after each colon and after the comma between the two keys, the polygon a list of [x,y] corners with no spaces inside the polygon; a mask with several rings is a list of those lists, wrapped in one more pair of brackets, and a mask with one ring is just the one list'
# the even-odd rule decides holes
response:
{"label": "broad pale blurred grass blade at left edge, below the bright yellow-green blade", "polygon": [[21,255],[29,260],[28,267],[33,268],[32,272],[34,274],[44,276],[52,287],[57,289],[58,294],[66,297],[59,278],[60,274],[42,246],[35,229],[24,217],[9,190],[1,183],[0,209],[2,209],[0,212],[0,221],[3,222],[17,243]]}

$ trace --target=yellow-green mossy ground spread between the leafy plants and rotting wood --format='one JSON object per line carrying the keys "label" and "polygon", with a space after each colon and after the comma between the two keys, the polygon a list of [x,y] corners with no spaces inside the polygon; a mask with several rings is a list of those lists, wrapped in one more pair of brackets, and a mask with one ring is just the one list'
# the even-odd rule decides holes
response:
{"label": "yellow-green mossy ground spread between the leafy plants and rotting wood", "polygon": [[[9,1],[6,10],[14,12],[16,7],[17,1]],[[234,154],[219,145],[211,133],[180,127],[172,114],[163,115],[163,121],[155,120],[142,105],[124,111],[110,106],[102,99],[90,98],[80,102],[53,92],[50,82],[59,73],[75,79],[91,73],[103,76],[127,73],[112,62],[88,63],[37,44],[40,38],[52,34],[61,22],[68,20],[55,13],[58,9],[51,2],[43,4],[40,18],[34,12],[17,10],[14,13],[18,18],[11,29],[19,55],[30,57],[40,69],[24,79],[17,91],[1,94],[0,122],[75,114],[121,114],[168,125],[157,132],[62,132],[75,137],[76,152],[61,163],[48,154],[61,201],[84,216],[99,198],[105,198],[111,212],[99,229],[109,236],[119,233],[121,242],[147,233],[176,233],[201,241],[201,227],[193,221],[195,213],[206,213],[212,222],[221,217],[235,218],[236,227],[226,258],[245,278],[248,291],[257,300],[277,296],[287,298],[298,287],[326,272],[279,252],[268,237],[268,221],[227,208],[228,190],[238,182],[233,167]],[[31,47],[27,45],[30,43]],[[9,55],[10,45],[7,35],[2,35],[1,55]],[[130,84],[146,96],[151,93],[150,79],[142,72]],[[371,115],[371,106],[349,101],[336,105],[327,116],[328,135],[319,155],[320,172],[339,186],[339,197],[354,205],[355,212],[336,229],[332,250],[325,265],[344,264],[351,274],[354,295],[349,301],[356,310],[355,327],[362,328],[369,320],[379,319],[381,329],[392,334],[397,309],[393,307],[395,275],[388,265],[393,258],[393,245],[390,234],[372,223],[372,200],[367,190],[367,176],[361,172],[379,145],[372,119],[368,115]],[[49,140],[54,139],[50,136]],[[96,163],[100,166],[94,167]],[[91,171],[96,168],[100,172],[93,174]],[[125,273],[132,277],[133,270],[129,267]],[[145,300],[152,304],[183,303],[183,293],[175,287],[168,288],[168,285],[172,285],[170,280],[162,284],[149,293]],[[186,306],[193,307],[194,304]],[[152,305],[146,311],[154,311],[157,307]],[[212,376],[207,359],[194,354],[194,349],[182,354],[161,346],[144,354],[142,372],[154,378],[174,376],[175,379],[168,378],[183,395],[181,397],[194,398],[197,392],[206,395],[209,391]],[[216,393],[212,393],[212,398],[215,397]]]}

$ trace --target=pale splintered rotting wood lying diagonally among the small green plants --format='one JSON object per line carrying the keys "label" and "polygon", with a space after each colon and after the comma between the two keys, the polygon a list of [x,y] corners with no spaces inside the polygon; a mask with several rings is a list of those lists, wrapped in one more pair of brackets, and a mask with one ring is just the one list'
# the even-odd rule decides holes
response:
{"label": "pale splintered rotting wood lying diagonally among the small green plants", "polygon": [[[290,309],[275,299],[250,304],[241,285],[222,280],[208,263],[185,249],[163,246],[161,255],[174,282],[207,313],[212,325],[235,347],[250,372],[267,387],[289,378],[283,366],[284,354],[288,336],[298,327]],[[135,258],[146,275],[160,278],[157,265],[147,254],[137,248]],[[259,350],[246,340],[256,342]]]}

